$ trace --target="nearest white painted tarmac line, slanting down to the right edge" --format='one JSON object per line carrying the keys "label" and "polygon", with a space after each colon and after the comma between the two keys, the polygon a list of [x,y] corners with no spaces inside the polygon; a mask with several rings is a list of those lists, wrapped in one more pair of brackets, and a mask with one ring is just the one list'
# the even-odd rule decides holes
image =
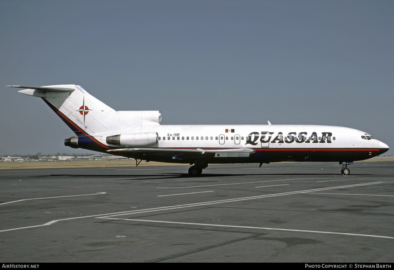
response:
{"label": "nearest white painted tarmac line, slanting down to the right edge", "polygon": [[394,237],[391,237],[391,236],[363,235],[363,234],[359,234],[359,233],[337,233],[337,232],[330,232],[330,231],[310,231],[310,230],[280,229],[280,228],[235,226],[235,225],[219,225],[219,224],[205,224],[205,223],[191,223],[191,222],[171,222],[171,221],[160,221],[160,220],[136,220],[136,219],[131,219],[131,218],[106,218],[106,217],[100,217],[100,218],[113,219],[113,220],[141,221],[141,222],[157,222],[157,223],[172,223],[172,224],[185,224],[185,225],[200,225],[200,226],[212,226],[212,227],[260,229],[260,230],[271,230],[271,231],[295,231],[295,232],[302,232],[302,233],[325,233],[325,234],[330,234],[330,235],[351,235],[351,236],[366,236],[366,237],[394,239]]}

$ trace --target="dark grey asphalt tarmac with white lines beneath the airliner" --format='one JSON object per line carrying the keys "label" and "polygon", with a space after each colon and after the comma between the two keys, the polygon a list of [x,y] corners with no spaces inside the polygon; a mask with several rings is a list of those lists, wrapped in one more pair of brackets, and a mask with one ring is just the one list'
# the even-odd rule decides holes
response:
{"label": "dark grey asphalt tarmac with white lines beneath the airliner", "polygon": [[394,162],[0,172],[0,261],[394,261]]}

